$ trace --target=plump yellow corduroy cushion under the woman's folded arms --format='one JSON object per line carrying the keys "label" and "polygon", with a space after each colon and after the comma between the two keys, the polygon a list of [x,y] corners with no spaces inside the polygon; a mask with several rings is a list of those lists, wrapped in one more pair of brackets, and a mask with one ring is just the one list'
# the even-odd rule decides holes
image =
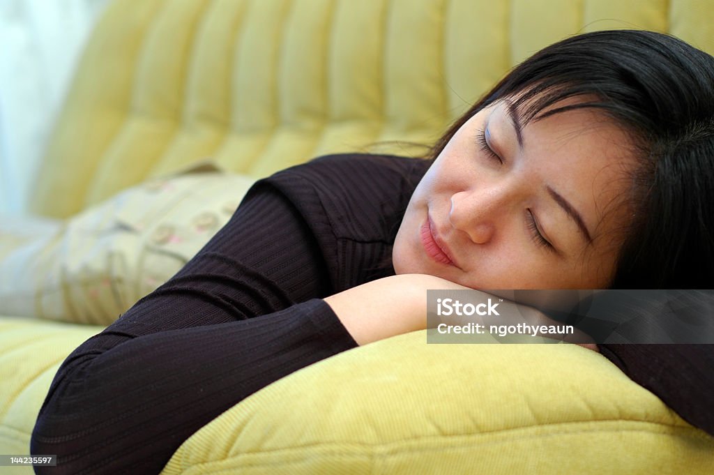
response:
{"label": "plump yellow corduroy cushion under the woman's folded arms", "polygon": [[714,438],[575,345],[347,351],[193,434],[162,475],[711,474]]}

